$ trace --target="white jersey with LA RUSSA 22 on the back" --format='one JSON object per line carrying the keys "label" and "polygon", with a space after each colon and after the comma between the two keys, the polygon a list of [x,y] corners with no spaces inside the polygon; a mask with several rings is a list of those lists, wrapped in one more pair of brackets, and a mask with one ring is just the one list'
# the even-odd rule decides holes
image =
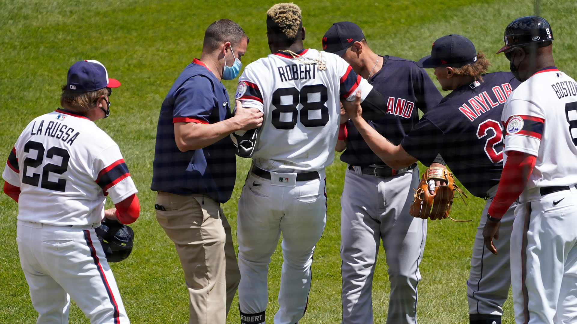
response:
{"label": "white jersey with LA RUSSA 22 on the back", "polygon": [[110,136],[61,109],[28,124],[2,178],[20,187],[18,220],[50,225],[100,223],[106,195],[116,204],[137,192]]}

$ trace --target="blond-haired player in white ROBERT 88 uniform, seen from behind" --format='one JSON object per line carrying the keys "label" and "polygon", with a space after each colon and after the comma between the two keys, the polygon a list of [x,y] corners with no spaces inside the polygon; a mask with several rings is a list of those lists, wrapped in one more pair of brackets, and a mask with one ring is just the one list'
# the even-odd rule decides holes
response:
{"label": "blond-haired player in white ROBERT 88 uniform, seen from behind", "polygon": [[268,263],[282,232],[274,322],[294,324],[306,310],[313,250],[325,225],[324,168],[334,159],[339,100],[362,89],[364,105],[385,103],[338,55],[303,47],[297,5],[268,10],[267,36],[272,54],[245,68],[235,94],[243,107],[264,114],[238,201],[238,299],[241,323],[265,322]]}

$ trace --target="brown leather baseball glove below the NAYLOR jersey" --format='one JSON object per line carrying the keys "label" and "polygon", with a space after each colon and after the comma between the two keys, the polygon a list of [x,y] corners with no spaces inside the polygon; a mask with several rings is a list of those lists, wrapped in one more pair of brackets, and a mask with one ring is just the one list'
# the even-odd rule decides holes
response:
{"label": "brown leather baseball glove below the NAYLOR jersey", "polygon": [[[441,185],[435,184],[439,180]],[[446,184],[443,184],[446,183]],[[430,191],[434,190],[431,194]],[[443,168],[428,168],[422,176],[421,183],[414,194],[414,201],[411,204],[409,214],[413,217],[430,218],[431,220],[443,219],[449,217],[451,205],[455,197],[455,191],[458,191],[461,199],[462,195],[467,195],[455,184],[453,174]],[[464,199],[463,199],[464,202]],[[467,204],[465,202],[465,204]],[[451,218],[451,217],[449,217]],[[451,220],[454,220],[451,218]],[[458,221],[458,220],[454,220]],[[459,220],[471,221],[471,220]]]}

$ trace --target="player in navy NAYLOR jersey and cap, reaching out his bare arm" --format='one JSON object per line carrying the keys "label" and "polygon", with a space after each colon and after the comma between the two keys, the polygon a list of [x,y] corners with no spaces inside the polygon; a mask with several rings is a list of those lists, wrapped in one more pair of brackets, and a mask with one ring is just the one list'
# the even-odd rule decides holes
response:
{"label": "player in navy NAYLOR jersey and cap, reaching out his bare arm", "polygon": [[[447,35],[433,43],[431,55],[417,62],[434,68],[445,96],[439,106],[422,116],[413,130],[394,145],[359,118],[354,104],[344,103],[355,127],[369,147],[393,169],[407,167],[419,160],[429,165],[441,154],[460,182],[475,196],[492,198],[503,169],[503,130],[499,122],[503,104],[519,84],[513,74],[484,74],[489,61],[477,52],[469,39]],[[489,208],[490,199],[484,213]],[[504,212],[499,244],[508,247],[514,202]],[[492,255],[484,249],[481,218],[471,257],[467,281],[467,300],[471,324],[501,323],[503,303],[511,279],[506,251]]]}

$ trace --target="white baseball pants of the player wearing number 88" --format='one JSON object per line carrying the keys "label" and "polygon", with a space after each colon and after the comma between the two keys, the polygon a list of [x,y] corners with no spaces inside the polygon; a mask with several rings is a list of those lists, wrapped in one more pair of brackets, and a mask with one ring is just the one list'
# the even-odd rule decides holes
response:
{"label": "white baseball pants of the player wearing number 88", "polygon": [[264,323],[268,263],[280,233],[283,265],[274,323],[294,324],[305,314],[313,250],[327,220],[324,172],[319,173],[320,179],[299,182],[297,174],[276,172],[271,172],[271,180],[252,172],[246,178],[237,217],[238,300],[243,323]]}

